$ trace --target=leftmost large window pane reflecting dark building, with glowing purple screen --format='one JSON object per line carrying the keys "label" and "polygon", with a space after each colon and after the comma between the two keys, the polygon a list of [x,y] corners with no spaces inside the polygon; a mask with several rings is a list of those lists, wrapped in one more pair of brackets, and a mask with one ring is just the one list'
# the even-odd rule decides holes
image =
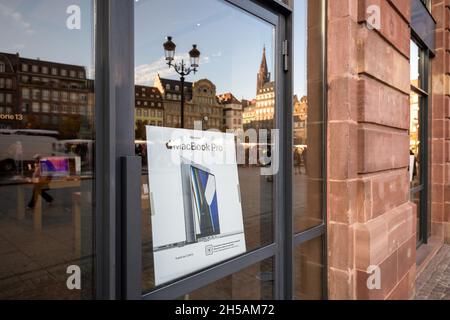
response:
{"label": "leftmost large window pane reflecting dark building, with glowing purple screen", "polygon": [[93,298],[93,3],[0,1],[0,299]]}

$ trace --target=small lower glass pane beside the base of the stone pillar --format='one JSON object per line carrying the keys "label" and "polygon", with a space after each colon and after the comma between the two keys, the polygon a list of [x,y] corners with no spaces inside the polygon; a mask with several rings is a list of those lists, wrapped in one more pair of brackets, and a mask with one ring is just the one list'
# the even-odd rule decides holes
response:
{"label": "small lower glass pane beside the base of the stone pillar", "polygon": [[294,298],[298,300],[323,299],[325,269],[322,237],[298,246],[294,254]]}

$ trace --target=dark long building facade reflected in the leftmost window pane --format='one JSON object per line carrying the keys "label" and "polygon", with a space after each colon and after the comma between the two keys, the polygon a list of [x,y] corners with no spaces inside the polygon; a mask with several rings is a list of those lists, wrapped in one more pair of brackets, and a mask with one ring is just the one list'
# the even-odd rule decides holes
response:
{"label": "dark long building facade reflected in the leftmost window pane", "polygon": [[0,61],[1,128],[56,130],[74,139],[92,127],[94,84],[84,67],[8,53]]}

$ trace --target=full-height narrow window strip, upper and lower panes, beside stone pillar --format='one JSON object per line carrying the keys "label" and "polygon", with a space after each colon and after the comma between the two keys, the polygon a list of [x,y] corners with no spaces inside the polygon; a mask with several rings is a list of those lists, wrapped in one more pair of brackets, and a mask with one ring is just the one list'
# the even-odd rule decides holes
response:
{"label": "full-height narrow window strip, upper and lower panes, beside stone pillar", "polygon": [[[325,108],[322,56],[324,2],[285,1],[293,8],[293,217],[294,241],[324,227]],[[306,44],[306,45],[305,45]],[[325,228],[323,228],[325,234]],[[294,298],[320,300],[324,294],[324,236],[294,248]]]}

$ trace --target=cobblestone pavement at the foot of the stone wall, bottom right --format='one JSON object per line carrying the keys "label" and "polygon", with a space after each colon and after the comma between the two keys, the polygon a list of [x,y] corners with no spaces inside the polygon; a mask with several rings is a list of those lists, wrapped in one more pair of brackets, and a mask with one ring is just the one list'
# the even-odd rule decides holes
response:
{"label": "cobblestone pavement at the foot of the stone wall, bottom right", "polygon": [[416,282],[416,300],[450,300],[450,246],[444,246]]}

